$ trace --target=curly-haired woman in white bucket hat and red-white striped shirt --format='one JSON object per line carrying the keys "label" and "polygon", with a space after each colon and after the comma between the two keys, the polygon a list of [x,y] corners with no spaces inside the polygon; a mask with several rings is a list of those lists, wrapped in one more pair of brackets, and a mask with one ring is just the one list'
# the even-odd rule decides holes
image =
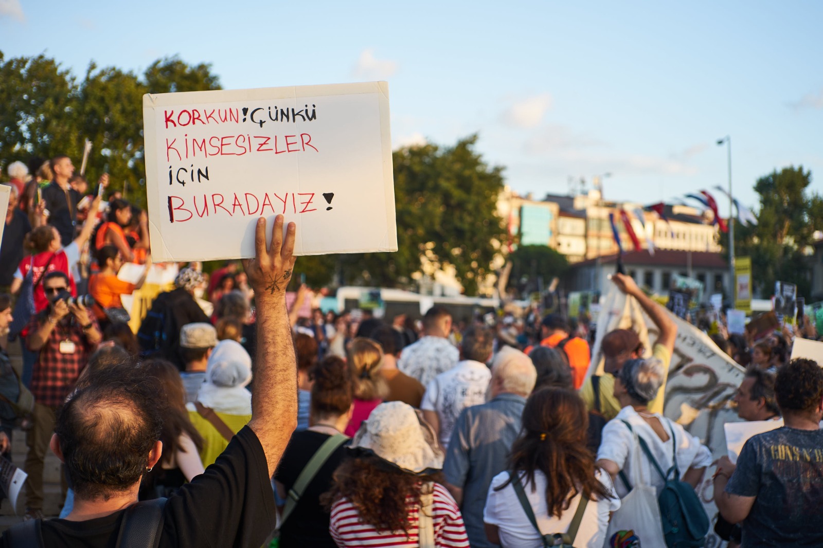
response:
{"label": "curly-haired woman in white bucket hat and red-white striped shirt", "polygon": [[403,402],[372,411],[321,502],[337,546],[469,546],[457,503],[440,483],[443,453],[430,425]]}

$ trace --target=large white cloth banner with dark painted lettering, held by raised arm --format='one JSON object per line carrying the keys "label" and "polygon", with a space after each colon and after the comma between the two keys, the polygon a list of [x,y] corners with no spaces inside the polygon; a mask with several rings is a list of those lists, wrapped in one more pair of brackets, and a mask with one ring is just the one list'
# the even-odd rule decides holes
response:
{"label": "large white cloth banner with dark painted lettering, held by raised arm", "polygon": [[[669,367],[663,414],[700,438],[711,450],[716,463],[727,454],[723,425],[740,420],[737,411],[729,403],[746,371],[721,351],[704,332],[674,314],[667,313],[677,323],[677,341]],[[657,326],[643,312],[637,300],[611,286],[602,300],[590,373],[597,371],[602,374],[600,342],[603,335],[617,328],[635,330],[650,355],[652,344],[658,336]],[[713,475],[714,463],[705,472],[703,482],[697,490],[706,513],[713,522],[706,548],[718,548],[723,543],[714,534],[717,507],[714,505]]]}

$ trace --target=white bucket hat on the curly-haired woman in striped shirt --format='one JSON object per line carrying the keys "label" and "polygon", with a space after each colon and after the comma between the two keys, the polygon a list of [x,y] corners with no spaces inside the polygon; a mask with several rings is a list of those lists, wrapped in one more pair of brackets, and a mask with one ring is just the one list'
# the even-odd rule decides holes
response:
{"label": "white bucket hat on the curly-haired woman in striped shirt", "polygon": [[431,426],[403,402],[374,408],[351,441],[351,448],[368,449],[402,471],[430,473],[443,467],[443,451]]}

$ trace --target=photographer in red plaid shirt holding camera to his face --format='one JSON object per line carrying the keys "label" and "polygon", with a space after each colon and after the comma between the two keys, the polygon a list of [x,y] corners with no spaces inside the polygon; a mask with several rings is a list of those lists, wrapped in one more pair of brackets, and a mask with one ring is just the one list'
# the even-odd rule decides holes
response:
{"label": "photographer in red plaid shirt holding camera to his face", "polygon": [[[30,386],[35,408],[26,432],[26,518],[43,517],[43,464],[56,413],[102,339],[95,318],[81,302],[88,297],[72,298],[65,272],[46,274],[43,288],[49,305],[31,319],[26,338],[29,350],[40,352]],[[63,481],[63,495],[66,489]]]}

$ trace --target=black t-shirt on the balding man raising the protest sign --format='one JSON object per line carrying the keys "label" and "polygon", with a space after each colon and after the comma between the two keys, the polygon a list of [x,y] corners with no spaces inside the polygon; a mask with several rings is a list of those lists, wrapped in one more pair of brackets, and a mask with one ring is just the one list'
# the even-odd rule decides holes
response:
{"label": "black t-shirt on the balding man raising the protest sign", "polygon": [[[42,524],[44,546],[114,548],[125,510],[83,522]],[[261,546],[275,527],[272,484],[263,446],[248,426],[206,472],[171,495],[163,511],[159,548]],[[2,547],[12,548],[7,535]]]}

